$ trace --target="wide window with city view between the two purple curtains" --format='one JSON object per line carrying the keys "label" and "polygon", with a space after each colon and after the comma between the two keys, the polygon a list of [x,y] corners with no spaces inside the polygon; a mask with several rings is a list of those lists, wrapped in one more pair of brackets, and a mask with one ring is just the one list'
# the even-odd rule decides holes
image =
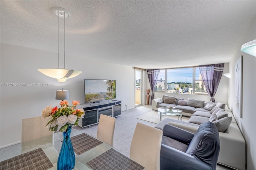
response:
{"label": "wide window with city view between the two purple curtains", "polygon": [[199,67],[160,69],[154,91],[207,94]]}

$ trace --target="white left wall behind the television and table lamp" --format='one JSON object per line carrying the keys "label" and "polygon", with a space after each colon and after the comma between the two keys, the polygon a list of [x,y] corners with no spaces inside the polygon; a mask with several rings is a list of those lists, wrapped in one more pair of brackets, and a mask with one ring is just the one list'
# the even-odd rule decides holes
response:
{"label": "white left wall behind the television and table lamp", "polygon": [[43,75],[39,68],[57,68],[58,54],[1,43],[0,83],[51,83],[50,87],[1,86],[0,147],[20,142],[24,118],[41,116],[46,106],[59,106],[56,90],[68,89],[70,99],[84,103],[84,79],[116,79],[116,98],[122,100],[122,111],[134,107],[134,69],[66,55],[66,68],[82,74],[59,83]]}

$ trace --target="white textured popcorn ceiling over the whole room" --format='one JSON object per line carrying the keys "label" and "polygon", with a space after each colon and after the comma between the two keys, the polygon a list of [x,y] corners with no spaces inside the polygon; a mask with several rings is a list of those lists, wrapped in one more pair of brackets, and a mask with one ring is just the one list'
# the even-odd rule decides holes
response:
{"label": "white textured popcorn ceiling over the whole room", "polygon": [[57,52],[51,8],[58,6],[71,14],[67,55],[144,69],[228,62],[256,14],[254,0],[1,0],[0,5],[2,43]]}

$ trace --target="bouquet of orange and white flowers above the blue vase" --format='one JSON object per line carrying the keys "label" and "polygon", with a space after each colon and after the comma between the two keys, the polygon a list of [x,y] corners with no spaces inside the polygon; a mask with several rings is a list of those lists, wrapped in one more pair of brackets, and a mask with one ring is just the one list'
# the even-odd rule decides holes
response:
{"label": "bouquet of orange and white flowers above the blue vase", "polygon": [[78,125],[80,117],[84,117],[84,109],[76,109],[76,105],[79,105],[79,101],[72,101],[72,106],[69,106],[67,101],[61,101],[60,108],[48,106],[42,110],[42,117],[52,116],[47,123],[50,125],[49,130],[65,132],[68,125]]}

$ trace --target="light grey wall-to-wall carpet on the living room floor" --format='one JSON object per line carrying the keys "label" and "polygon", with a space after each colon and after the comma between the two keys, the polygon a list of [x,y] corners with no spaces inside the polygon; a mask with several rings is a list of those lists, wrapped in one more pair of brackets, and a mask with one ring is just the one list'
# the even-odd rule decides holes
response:
{"label": "light grey wall-to-wall carpet on the living room floor", "polygon": [[[149,121],[137,119],[137,117],[141,117],[142,115],[147,115],[150,112],[157,114],[156,111],[152,111],[151,105],[143,105],[140,107],[129,109],[127,111],[123,111],[122,114],[117,117],[116,127],[114,132],[114,147],[116,149],[120,150],[127,156],[130,155],[130,145],[132,142],[132,136],[133,136],[136,124],[140,122],[151,127],[156,125],[155,123],[151,123]],[[177,116],[173,116],[173,118],[178,119]],[[185,118],[186,117],[182,117],[182,120],[185,121]],[[156,119],[160,120],[160,115],[157,114]],[[95,137],[97,136],[98,125],[92,125],[90,128],[88,127],[81,128],[79,126],[73,126],[73,128],[81,130],[87,134],[91,134],[92,136],[95,136]],[[230,169],[218,164],[216,170],[230,170]]]}

